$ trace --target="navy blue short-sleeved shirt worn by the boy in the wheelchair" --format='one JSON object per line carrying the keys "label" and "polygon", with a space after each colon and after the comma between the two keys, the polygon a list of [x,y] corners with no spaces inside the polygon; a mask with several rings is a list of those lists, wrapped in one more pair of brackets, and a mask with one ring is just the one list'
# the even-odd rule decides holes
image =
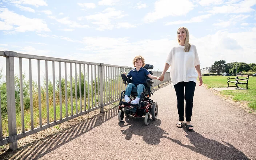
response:
{"label": "navy blue short-sleeved shirt worn by the boy in the wheelchair", "polygon": [[135,84],[136,86],[138,84],[144,84],[145,85],[146,84],[146,77],[149,74],[150,73],[148,72],[147,69],[141,67],[139,71],[137,71],[136,68],[132,69],[128,73],[127,77],[129,77],[129,78],[132,77],[132,83]]}

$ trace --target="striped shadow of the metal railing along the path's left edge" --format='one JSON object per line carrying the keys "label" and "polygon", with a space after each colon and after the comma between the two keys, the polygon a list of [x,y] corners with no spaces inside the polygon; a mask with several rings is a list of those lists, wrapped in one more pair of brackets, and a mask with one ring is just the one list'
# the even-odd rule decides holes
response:
{"label": "striped shadow of the metal railing along the path's left edge", "polygon": [[108,112],[99,113],[92,118],[86,119],[81,123],[75,124],[67,130],[58,133],[57,135],[48,136],[42,140],[29,143],[16,151],[10,149],[0,155],[1,160],[35,160],[46,155],[47,153],[59,148],[69,141],[83,135],[91,129],[103,124],[112,119],[118,114],[118,107],[110,109]]}

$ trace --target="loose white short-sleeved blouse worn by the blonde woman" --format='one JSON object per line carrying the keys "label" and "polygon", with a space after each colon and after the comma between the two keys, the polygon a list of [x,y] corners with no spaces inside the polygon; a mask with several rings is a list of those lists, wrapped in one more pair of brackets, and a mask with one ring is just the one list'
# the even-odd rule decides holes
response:
{"label": "loose white short-sleeved blouse worn by the blonde woman", "polygon": [[172,85],[182,81],[196,82],[198,75],[195,66],[200,64],[200,60],[195,45],[191,45],[189,52],[184,51],[183,45],[173,47],[165,63],[171,67]]}

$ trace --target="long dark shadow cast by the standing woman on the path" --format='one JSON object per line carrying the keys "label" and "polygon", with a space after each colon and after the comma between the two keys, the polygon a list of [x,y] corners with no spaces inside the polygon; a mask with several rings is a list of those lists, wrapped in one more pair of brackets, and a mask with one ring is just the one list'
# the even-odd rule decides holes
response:
{"label": "long dark shadow cast by the standing woman on the path", "polygon": [[180,140],[171,139],[170,137],[166,138],[213,160],[249,160],[243,152],[227,142],[223,141],[225,144],[222,144],[216,140],[207,139],[195,131],[189,132],[187,128],[183,129],[188,134],[185,136],[188,137],[193,146],[182,144]]}

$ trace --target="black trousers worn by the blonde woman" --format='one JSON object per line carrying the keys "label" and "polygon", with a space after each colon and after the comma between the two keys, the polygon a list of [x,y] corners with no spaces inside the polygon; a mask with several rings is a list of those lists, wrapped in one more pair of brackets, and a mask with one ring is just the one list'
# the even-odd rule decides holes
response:
{"label": "black trousers worn by the blonde woman", "polygon": [[[177,96],[177,107],[179,113],[179,121],[184,121],[184,99],[186,100],[186,121],[191,121],[192,109],[193,109],[193,97],[196,88],[194,81],[179,82],[174,85]],[[184,93],[185,88],[185,93]]]}

